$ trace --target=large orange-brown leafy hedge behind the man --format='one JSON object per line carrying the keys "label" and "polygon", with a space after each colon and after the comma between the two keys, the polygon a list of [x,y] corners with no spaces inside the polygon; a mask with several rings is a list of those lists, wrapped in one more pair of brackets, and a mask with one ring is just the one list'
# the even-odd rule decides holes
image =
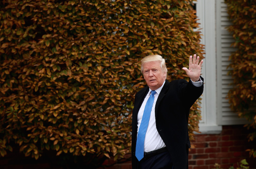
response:
{"label": "large orange-brown leafy hedge behind the man", "polygon": [[[42,152],[122,158],[131,146],[140,60],[166,58],[168,79],[186,78],[202,56],[192,0],[0,2],[0,153],[12,143]],[[198,104],[189,116],[198,131]]]}

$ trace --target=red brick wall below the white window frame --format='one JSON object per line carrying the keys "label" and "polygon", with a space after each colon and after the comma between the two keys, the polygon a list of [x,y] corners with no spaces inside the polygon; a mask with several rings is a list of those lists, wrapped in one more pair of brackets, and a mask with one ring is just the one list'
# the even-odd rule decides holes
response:
{"label": "red brick wall below the white window frame", "polygon": [[[212,169],[218,163],[221,168],[237,167],[237,162],[246,159],[250,169],[256,168],[256,159],[245,150],[256,148],[256,141],[248,142],[248,131],[243,125],[223,126],[220,134],[198,134],[191,141],[189,169]],[[113,163],[106,160],[105,163]],[[131,161],[115,164],[107,169],[131,169]]]}

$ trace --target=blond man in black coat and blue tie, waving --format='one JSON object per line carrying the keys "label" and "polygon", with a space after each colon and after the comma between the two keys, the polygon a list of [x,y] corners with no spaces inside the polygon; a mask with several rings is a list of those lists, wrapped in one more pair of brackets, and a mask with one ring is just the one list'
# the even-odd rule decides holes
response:
{"label": "blond man in black coat and blue tie, waving", "polygon": [[188,116],[203,92],[203,61],[189,57],[190,80],[166,80],[165,59],[149,55],[141,60],[147,87],[138,91],[132,112],[132,168],[188,168]]}

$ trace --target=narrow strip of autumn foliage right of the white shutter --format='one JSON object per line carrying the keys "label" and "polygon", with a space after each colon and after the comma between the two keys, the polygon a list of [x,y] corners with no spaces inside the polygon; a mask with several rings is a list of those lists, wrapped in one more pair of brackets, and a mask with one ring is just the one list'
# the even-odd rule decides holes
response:
{"label": "narrow strip of autumn foliage right of the white shutter", "polygon": [[[229,91],[228,98],[231,108],[251,122],[246,127],[256,129],[256,4],[253,0],[225,0],[225,3],[233,22],[228,30],[237,47],[230,56],[234,88]],[[250,141],[255,137],[256,131],[248,135]],[[256,150],[251,149],[250,155],[256,157]]]}

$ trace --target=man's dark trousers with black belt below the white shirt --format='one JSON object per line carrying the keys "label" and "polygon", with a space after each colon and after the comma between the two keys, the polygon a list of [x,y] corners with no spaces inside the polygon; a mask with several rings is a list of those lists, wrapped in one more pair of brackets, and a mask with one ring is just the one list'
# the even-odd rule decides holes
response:
{"label": "man's dark trousers with black belt below the white shirt", "polygon": [[149,159],[142,159],[138,162],[138,169],[173,169],[170,153],[166,151]]}

